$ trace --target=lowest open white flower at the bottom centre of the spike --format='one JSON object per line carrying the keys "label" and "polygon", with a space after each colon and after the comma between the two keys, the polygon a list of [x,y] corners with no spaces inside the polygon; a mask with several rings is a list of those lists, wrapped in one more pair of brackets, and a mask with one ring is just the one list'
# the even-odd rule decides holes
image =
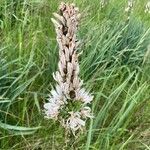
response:
{"label": "lowest open white flower at the bottom centre of the spike", "polygon": [[70,112],[70,117],[67,119],[66,125],[73,132],[82,129],[85,126],[85,121],[81,119],[79,112]]}

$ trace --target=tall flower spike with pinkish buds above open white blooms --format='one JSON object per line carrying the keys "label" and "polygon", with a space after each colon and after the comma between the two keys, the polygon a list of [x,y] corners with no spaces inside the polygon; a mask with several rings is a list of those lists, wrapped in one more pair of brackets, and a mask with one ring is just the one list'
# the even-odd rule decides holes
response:
{"label": "tall flower spike with pinkish buds above open white blooms", "polygon": [[53,74],[57,84],[44,108],[47,118],[58,120],[63,127],[75,133],[83,129],[88,118],[93,117],[89,107],[93,96],[82,87],[83,81],[79,78],[76,52],[78,8],[74,4],[62,3],[59,11],[59,14],[54,13],[55,19],[51,19],[59,45],[58,71]]}

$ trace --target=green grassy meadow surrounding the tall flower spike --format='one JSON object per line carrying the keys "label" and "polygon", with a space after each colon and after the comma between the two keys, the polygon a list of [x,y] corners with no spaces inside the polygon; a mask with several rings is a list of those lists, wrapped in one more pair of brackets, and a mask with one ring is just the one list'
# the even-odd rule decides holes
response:
{"label": "green grassy meadow surrounding the tall flower spike", "polygon": [[[59,0],[0,1],[0,150],[66,149],[64,130],[44,119],[58,46],[50,20]],[[68,0],[80,9],[80,77],[94,95],[81,150],[150,150],[150,14],[136,0]]]}

